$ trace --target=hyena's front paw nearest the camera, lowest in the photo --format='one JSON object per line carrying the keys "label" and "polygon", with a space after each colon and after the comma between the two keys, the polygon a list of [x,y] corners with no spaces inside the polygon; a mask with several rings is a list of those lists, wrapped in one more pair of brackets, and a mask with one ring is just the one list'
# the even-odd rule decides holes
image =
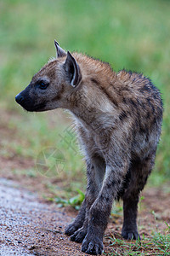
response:
{"label": "hyena's front paw nearest the camera, lowest in the photo", "polygon": [[82,241],[82,252],[98,255],[103,252],[103,241],[98,236],[87,235]]}

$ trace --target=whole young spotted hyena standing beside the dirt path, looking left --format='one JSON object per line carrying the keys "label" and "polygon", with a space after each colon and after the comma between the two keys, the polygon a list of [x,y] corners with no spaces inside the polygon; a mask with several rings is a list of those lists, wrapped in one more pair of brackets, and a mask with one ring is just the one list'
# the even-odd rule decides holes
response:
{"label": "whole young spotted hyena standing beside the dirt path, looking left", "polygon": [[122,198],[122,237],[139,239],[139,193],[154,166],[161,134],[159,90],[143,74],[112,71],[108,63],[55,41],[49,61],[16,96],[27,111],[66,108],[75,119],[87,163],[88,185],[77,218],[66,227],[82,252],[101,254],[114,200]]}

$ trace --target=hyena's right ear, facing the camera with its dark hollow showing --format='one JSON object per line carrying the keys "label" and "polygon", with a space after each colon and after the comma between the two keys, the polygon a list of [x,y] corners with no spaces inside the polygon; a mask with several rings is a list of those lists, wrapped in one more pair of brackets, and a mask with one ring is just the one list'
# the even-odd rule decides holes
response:
{"label": "hyena's right ear, facing the camera with its dark hollow showing", "polygon": [[69,51],[67,51],[64,68],[65,68],[67,79],[69,79],[70,84],[73,87],[76,87],[82,79],[82,74],[77,64],[77,61]]}

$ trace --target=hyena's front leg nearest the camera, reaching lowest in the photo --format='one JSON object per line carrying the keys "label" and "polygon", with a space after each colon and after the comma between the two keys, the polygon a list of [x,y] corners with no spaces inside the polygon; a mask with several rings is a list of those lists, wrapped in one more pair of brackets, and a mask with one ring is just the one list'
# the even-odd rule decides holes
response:
{"label": "hyena's front leg nearest the camera, reaching lowest in the photo", "polygon": [[97,199],[90,208],[87,236],[82,241],[82,252],[98,255],[103,251],[103,236],[117,192],[122,188],[126,166],[106,167],[105,180]]}

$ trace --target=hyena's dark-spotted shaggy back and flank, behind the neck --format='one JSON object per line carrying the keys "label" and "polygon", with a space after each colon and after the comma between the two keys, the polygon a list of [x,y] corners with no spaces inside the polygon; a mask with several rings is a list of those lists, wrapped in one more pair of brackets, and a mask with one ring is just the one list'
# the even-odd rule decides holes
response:
{"label": "hyena's dark-spotted shaggy back and flank, behind the neck", "polygon": [[163,110],[159,90],[142,74],[125,70],[106,89],[116,102],[120,136],[131,145],[132,159],[142,160],[156,152]]}

